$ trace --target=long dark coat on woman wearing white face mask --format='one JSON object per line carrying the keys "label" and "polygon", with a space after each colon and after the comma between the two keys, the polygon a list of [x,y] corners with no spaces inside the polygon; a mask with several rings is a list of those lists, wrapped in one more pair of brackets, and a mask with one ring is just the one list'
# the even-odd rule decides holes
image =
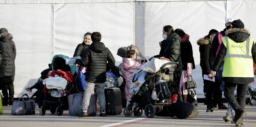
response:
{"label": "long dark coat on woman wearing white face mask", "polygon": [[178,62],[179,67],[174,71],[175,77],[172,84],[168,84],[168,88],[172,94],[177,94],[180,86],[180,79],[182,73],[182,63],[181,63],[181,46],[180,46],[181,37],[174,33],[171,34],[166,40],[161,42],[161,50],[159,55],[154,57],[165,57],[170,59],[172,62]]}

